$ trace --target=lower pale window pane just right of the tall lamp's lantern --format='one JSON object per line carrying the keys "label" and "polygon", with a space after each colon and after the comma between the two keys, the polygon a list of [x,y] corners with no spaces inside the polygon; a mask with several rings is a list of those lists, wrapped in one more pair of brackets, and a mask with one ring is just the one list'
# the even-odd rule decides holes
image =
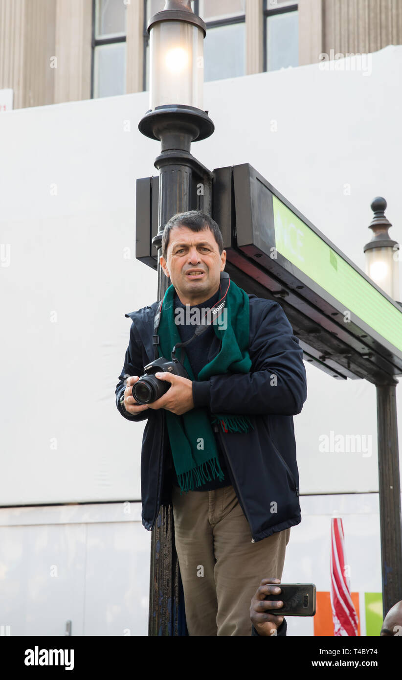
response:
{"label": "lower pale window pane just right of the tall lamp's lantern", "polygon": [[204,40],[204,80],[235,78],[246,73],[245,24],[208,29]]}

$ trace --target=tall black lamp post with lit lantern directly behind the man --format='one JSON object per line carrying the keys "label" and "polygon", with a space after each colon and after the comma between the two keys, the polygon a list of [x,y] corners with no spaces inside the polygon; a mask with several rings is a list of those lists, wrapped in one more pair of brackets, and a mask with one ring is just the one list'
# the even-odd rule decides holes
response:
{"label": "tall black lamp post with lit lantern directly behind the man", "polygon": [[[148,22],[150,34],[150,110],[139,130],[161,141],[154,165],[159,171],[158,300],[169,284],[159,265],[163,228],[177,212],[210,213],[212,173],[190,153],[192,141],[206,139],[214,123],[203,111],[203,39],[206,27],[190,0],[166,0]],[[198,190],[197,190],[198,188]],[[161,505],[152,530],[148,635],[186,634],[184,600],[174,546],[173,510]]]}

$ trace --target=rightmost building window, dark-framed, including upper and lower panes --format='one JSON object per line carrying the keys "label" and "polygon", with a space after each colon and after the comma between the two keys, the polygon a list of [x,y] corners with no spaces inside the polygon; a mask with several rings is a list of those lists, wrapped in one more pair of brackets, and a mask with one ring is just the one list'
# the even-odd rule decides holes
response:
{"label": "rightmost building window, dark-framed, including upper and lower panes", "polygon": [[299,13],[291,0],[264,0],[264,71],[299,65]]}

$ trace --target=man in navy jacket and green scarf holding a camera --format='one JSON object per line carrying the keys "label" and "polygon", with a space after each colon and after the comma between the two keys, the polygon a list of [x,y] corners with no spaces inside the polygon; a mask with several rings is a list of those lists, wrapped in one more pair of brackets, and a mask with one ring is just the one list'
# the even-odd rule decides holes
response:
{"label": "man in navy jacket and green scarf holding a camera", "polygon": [[301,521],[292,416],[307,396],[303,351],[282,307],[246,294],[225,262],[210,216],[167,222],[161,266],[171,285],[163,301],[125,315],[116,387],[124,418],[147,420],[144,526],[173,504],[191,636],[252,634],[250,601],[265,574],[282,577]]}

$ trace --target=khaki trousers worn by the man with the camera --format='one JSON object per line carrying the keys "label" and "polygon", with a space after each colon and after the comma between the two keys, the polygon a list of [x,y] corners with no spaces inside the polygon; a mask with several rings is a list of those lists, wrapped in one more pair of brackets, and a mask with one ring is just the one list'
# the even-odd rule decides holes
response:
{"label": "khaki trousers worn by the man with the camera", "polygon": [[188,634],[251,636],[250,602],[261,579],[282,578],[290,529],[251,543],[233,486],[173,486],[172,502]]}

